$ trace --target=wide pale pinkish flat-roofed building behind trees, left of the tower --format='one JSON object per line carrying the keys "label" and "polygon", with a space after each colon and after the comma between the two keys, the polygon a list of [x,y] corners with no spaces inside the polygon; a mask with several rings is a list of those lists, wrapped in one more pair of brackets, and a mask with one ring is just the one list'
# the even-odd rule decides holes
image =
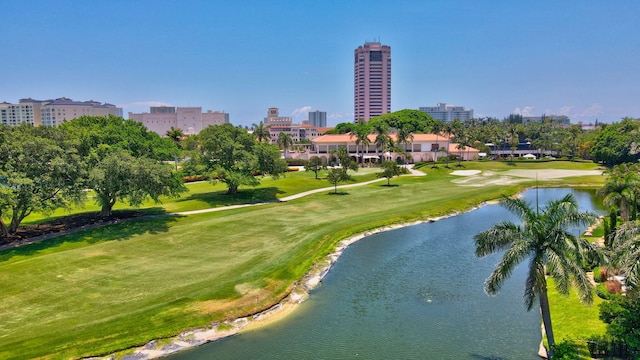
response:
{"label": "wide pale pinkish flat-roofed building behind trees, left of the tower", "polygon": [[180,129],[185,135],[194,135],[210,125],[222,125],[229,122],[229,114],[222,111],[202,112],[202,107],[154,106],[141,114],[129,112],[129,119],[161,136],[167,131]]}

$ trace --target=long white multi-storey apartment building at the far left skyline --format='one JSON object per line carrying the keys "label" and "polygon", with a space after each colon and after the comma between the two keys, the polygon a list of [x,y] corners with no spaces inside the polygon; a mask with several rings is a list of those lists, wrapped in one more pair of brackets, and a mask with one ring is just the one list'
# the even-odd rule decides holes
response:
{"label": "long white multi-storey apartment building at the far left skyline", "polygon": [[98,101],[20,99],[18,104],[0,103],[0,123],[10,126],[22,123],[55,126],[80,116],[122,116],[122,109]]}

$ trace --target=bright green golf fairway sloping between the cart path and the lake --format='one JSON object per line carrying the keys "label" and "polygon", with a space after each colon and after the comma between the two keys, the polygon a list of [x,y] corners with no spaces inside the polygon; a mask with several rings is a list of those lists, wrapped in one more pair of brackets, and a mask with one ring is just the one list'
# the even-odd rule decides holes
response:
{"label": "bright green golf fairway sloping between the cart path and the lake", "polygon": [[351,234],[517,190],[460,187],[449,170],[425,170],[395,187],[123,223],[0,253],[0,358],[106,353],[253,313]]}

